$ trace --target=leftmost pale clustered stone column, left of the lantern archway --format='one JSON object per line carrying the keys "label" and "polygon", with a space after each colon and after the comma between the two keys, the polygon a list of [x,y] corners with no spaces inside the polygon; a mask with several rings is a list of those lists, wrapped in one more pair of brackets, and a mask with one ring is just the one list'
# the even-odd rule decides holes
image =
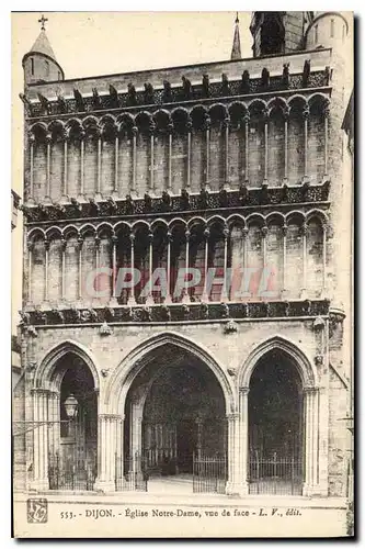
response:
{"label": "leftmost pale clustered stone column, left of the lantern archway", "polygon": [[48,391],[33,389],[33,481],[31,490],[49,489],[48,481]]}

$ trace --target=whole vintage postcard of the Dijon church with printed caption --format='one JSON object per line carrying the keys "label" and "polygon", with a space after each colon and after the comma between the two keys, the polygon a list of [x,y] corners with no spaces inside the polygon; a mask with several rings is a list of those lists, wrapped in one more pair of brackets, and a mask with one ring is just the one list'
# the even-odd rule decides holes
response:
{"label": "whole vintage postcard of the Dijon church with printed caption", "polygon": [[353,14],[12,13],[18,538],[353,536]]}

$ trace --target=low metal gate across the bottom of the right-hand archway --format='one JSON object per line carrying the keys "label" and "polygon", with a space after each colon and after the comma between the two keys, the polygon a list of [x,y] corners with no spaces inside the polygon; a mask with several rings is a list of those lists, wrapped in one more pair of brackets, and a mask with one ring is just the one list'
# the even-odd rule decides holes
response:
{"label": "low metal gate across the bottom of the right-hand archway", "polygon": [[301,495],[303,462],[300,459],[250,457],[250,494]]}

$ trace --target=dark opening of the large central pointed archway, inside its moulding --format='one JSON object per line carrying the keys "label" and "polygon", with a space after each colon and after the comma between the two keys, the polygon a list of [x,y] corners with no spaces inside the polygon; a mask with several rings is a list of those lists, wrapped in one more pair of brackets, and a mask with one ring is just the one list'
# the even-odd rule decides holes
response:
{"label": "dark opening of the large central pointed archway, inside its moulding", "polygon": [[214,461],[221,467],[212,491],[219,484],[225,492],[228,435],[219,381],[204,360],[172,343],[148,355],[125,399],[116,490],[137,479],[132,489],[147,490],[148,481],[149,492],[209,491],[196,478],[203,462]]}

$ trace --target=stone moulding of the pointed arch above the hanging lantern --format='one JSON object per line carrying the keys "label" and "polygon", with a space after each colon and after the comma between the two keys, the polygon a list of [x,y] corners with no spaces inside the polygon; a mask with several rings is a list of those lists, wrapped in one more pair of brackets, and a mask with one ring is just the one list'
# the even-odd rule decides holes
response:
{"label": "stone moulding of the pointed arch above the hanging lantern", "polygon": [[94,380],[95,391],[100,389],[99,368],[95,358],[91,351],[82,344],[66,339],[65,341],[55,345],[46,352],[34,377],[34,389],[59,390],[61,378],[57,374],[57,363],[60,358],[67,354],[72,354],[84,361],[90,369]]}

